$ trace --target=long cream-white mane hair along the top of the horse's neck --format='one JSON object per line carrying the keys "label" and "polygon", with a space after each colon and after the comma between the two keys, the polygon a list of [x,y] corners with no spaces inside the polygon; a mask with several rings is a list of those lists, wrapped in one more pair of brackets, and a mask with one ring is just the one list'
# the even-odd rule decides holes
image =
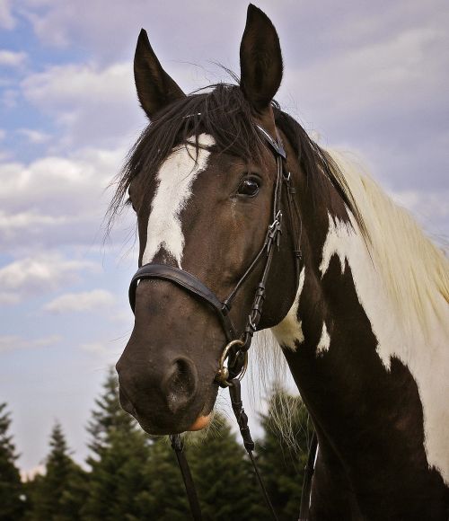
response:
{"label": "long cream-white mane hair along the top of the horse's neck", "polygon": [[403,325],[418,323],[423,331],[430,332],[429,324],[437,317],[449,333],[449,323],[444,321],[449,302],[449,260],[445,253],[348,154],[328,152],[357,203],[374,269],[383,278],[397,318]]}

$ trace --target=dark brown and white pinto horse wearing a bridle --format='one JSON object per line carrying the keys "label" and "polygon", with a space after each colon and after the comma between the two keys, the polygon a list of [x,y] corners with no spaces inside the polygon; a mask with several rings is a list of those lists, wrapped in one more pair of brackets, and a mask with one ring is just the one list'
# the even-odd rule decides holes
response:
{"label": "dark brown and white pinto horse wearing a bridle", "polygon": [[138,37],[150,124],[111,202],[136,212],[143,270],[121,405],[155,435],[205,428],[224,346],[244,358],[270,330],[318,437],[310,519],[447,519],[445,254],[280,109],[277,31],[252,4],[240,64],[236,84],[186,95]]}

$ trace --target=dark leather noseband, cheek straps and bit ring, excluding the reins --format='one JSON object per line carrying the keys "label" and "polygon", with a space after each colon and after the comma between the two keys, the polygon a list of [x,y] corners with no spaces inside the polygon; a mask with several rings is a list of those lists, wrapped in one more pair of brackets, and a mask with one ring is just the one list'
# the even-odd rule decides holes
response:
{"label": "dark leather noseband, cheek straps and bit ring, excluding the reins", "polygon": [[[131,284],[129,286],[129,303],[133,313],[136,307],[136,288],[138,282],[140,280],[150,278],[168,280],[176,286],[181,287],[185,291],[189,292],[192,296],[197,297],[199,300],[209,305],[214,310],[219,322],[221,323],[222,329],[225,332],[225,338],[227,341],[223,354],[220,358],[220,366],[216,374],[216,382],[218,382],[218,384],[220,384],[222,387],[231,385],[230,381],[236,377],[241,379],[246,370],[248,363],[248,349],[251,347],[252,336],[254,335],[255,331],[257,331],[262,314],[262,306],[265,300],[266,283],[267,279],[269,278],[269,269],[271,267],[273,253],[279,247],[280,234],[282,234],[283,213],[281,204],[282,188],[284,184],[286,185],[287,208],[290,214],[290,224],[294,228],[293,237],[295,241],[294,258],[296,286],[299,283],[299,268],[301,261],[301,230],[299,230],[298,234],[296,233],[297,230],[295,228],[297,225],[300,225],[301,219],[299,210],[296,206],[296,200],[294,197],[295,188],[291,183],[290,172],[287,172],[285,168],[286,151],[284,150],[284,147],[282,146],[278,136],[277,140],[275,141],[264,128],[261,128],[259,125],[257,125],[257,128],[260,130],[262,137],[264,137],[264,139],[267,141],[269,147],[276,157],[277,176],[273,195],[273,214],[260,251],[254,257],[250,266],[243,273],[235,287],[233,287],[233,291],[229,294],[229,296],[227,296],[224,301],[221,301],[210,288],[208,288],[203,282],[198,280],[198,278],[193,276],[188,271],[184,271],[184,269],[173,268],[172,266],[168,266],[166,264],[155,264],[153,262],[145,264],[141,268],[137,269],[136,274],[131,279]],[[275,245],[277,248],[274,247]],[[265,258],[265,267],[263,269],[260,283],[258,284],[254,294],[251,313],[248,316],[242,335],[239,335],[237,331],[235,331],[233,321],[231,320],[231,316],[229,314],[233,305],[233,299],[237,295],[245,280],[251,275],[251,272],[256,268],[256,266],[258,266],[263,258]],[[227,366],[225,366],[226,359]]]}

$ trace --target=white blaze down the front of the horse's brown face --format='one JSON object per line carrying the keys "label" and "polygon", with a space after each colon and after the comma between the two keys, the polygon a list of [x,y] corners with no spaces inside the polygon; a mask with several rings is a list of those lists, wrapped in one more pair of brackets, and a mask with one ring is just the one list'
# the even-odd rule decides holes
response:
{"label": "white blaze down the front of the horse's brown face", "polygon": [[[208,134],[198,136],[199,146],[213,146],[215,140]],[[154,255],[164,248],[180,268],[184,251],[184,235],[180,212],[186,208],[192,195],[191,187],[200,172],[207,168],[210,152],[198,149],[195,143],[175,148],[157,172],[158,182],[151,204],[146,231],[146,244],[142,264],[153,261]]]}

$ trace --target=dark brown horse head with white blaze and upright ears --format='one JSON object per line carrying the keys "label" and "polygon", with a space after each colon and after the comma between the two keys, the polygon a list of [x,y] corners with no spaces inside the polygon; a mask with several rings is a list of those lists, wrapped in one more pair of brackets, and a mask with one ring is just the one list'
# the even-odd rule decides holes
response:
{"label": "dark brown horse head with white blaze and upright ears", "polygon": [[[239,86],[219,84],[186,96],[141,31],[136,90],[151,124],[136,144],[123,185],[136,210],[139,265],[181,269],[220,302],[263,250],[273,222],[277,157],[263,132],[277,142],[272,100],[282,57],[275,28],[254,6],[240,57]],[[284,140],[285,167],[298,178],[295,154]],[[260,328],[280,322],[295,297],[295,241],[291,226],[284,228]],[[263,262],[254,265],[232,307],[227,305],[234,339],[242,337],[263,268]],[[210,303],[176,281],[140,279],[132,300],[135,326],[117,364],[122,406],[151,433],[204,427],[216,401],[219,360],[233,338]]]}

